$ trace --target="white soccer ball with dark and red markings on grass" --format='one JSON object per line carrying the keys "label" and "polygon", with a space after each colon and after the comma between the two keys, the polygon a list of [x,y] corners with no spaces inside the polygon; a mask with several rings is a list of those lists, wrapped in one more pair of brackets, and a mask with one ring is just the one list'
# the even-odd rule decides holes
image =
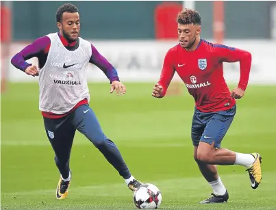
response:
{"label": "white soccer ball with dark and red markings on grass", "polygon": [[161,201],[161,192],[153,184],[142,184],[134,192],[134,204],[138,209],[158,209]]}

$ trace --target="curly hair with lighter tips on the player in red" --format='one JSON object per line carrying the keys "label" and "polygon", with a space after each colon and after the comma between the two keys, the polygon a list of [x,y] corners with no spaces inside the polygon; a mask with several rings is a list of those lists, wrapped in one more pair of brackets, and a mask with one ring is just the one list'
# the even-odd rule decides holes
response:
{"label": "curly hair with lighter tips on the player in red", "polygon": [[181,25],[201,25],[201,16],[199,12],[195,10],[185,9],[178,13],[177,15],[177,23]]}

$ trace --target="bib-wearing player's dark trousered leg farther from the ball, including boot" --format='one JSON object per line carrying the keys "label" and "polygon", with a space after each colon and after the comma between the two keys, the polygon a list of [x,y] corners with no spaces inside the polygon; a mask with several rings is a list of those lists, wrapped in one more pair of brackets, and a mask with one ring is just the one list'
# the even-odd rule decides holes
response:
{"label": "bib-wearing player's dark trousered leg farther from the ball, including boot", "polygon": [[55,152],[55,164],[61,175],[56,189],[56,198],[64,199],[68,195],[68,187],[71,183],[69,163],[76,129],[71,124],[70,116],[58,119],[44,118],[44,123],[45,131]]}

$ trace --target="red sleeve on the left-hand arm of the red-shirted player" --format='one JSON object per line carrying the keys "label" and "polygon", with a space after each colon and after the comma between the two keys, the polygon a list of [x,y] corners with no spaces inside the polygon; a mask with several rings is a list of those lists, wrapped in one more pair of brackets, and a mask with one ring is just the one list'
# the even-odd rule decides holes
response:
{"label": "red sleeve on the left-hand arm of the red-shirted player", "polygon": [[166,95],[166,91],[168,90],[168,86],[173,79],[173,75],[175,75],[175,66],[174,66],[174,53],[173,49],[168,50],[166,56],[164,58],[163,68],[161,71],[161,76],[158,81],[160,86],[163,87],[163,94],[162,97]]}

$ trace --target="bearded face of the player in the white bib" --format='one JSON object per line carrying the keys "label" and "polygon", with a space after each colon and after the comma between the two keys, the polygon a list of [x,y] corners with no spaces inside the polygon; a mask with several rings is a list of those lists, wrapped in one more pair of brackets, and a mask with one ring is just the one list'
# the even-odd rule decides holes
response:
{"label": "bearded face of the player in the white bib", "polygon": [[62,23],[58,23],[58,28],[62,35],[69,41],[75,41],[79,37],[79,13],[64,12]]}

